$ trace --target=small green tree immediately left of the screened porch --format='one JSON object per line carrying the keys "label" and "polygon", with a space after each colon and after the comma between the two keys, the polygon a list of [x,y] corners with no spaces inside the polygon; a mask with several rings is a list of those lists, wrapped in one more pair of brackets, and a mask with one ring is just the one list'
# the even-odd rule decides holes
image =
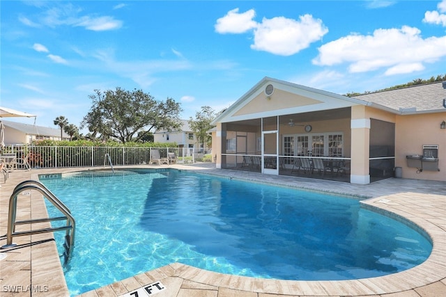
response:
{"label": "small green tree immediately left of the screened porch", "polygon": [[210,122],[212,122],[215,117],[215,111],[211,109],[210,106],[201,106],[201,111],[195,113],[195,119],[190,117],[187,121],[190,129],[197,136],[198,143],[210,146],[212,137],[208,134],[208,131],[214,127],[213,125],[210,125]]}

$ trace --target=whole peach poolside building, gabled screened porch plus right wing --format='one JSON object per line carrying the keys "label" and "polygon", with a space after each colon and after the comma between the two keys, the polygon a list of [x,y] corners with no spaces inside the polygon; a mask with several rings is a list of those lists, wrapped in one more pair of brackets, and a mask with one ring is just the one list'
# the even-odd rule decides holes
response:
{"label": "whole peach poolside building, gabled screened porch plus right wing", "polygon": [[446,181],[445,88],[438,82],[346,97],[265,77],[213,121],[216,167],[259,159],[260,172],[279,175],[297,159],[330,158],[348,163],[354,184],[394,170]]}

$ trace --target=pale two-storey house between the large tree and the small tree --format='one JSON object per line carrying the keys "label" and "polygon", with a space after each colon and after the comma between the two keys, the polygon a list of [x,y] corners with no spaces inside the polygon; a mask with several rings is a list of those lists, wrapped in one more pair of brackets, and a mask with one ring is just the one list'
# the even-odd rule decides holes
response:
{"label": "pale two-storey house between the large tree and the small tree", "polygon": [[178,147],[199,150],[203,145],[197,143],[197,137],[189,127],[187,120],[181,120],[181,127],[175,127],[168,131],[167,129],[157,130],[153,134],[155,143],[176,143]]}

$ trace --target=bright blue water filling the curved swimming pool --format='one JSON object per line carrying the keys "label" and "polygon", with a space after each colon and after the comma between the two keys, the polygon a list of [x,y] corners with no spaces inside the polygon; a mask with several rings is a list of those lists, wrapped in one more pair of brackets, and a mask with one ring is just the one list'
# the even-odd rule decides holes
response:
{"label": "bright blue water filling the curved swimming pool", "polygon": [[334,195],[168,169],[40,181],[77,222],[65,268],[72,295],[172,262],[257,278],[369,278],[416,266],[432,248],[403,223]]}

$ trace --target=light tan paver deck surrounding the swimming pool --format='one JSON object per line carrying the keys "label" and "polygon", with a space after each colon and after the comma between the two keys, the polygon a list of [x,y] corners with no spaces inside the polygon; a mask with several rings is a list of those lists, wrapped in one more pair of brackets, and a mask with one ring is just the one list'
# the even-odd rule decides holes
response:
{"label": "light tan paver deck surrounding the swimming pool", "polygon": [[[151,287],[156,296],[386,296],[428,297],[446,296],[446,183],[414,179],[385,179],[368,185],[321,181],[284,176],[260,175],[253,172],[219,170],[215,164],[174,165],[180,170],[194,170],[233,179],[268,182],[282,186],[305,188],[343,195],[355,195],[365,200],[364,207],[380,211],[398,220],[419,227],[429,234],[433,250],[426,262],[407,271],[378,278],[343,281],[265,280],[225,275],[173,263],[153,271],[134,275],[114,284],[82,294],[92,296],[136,296],[129,292]],[[167,166],[137,166],[137,168],[167,168]],[[39,174],[63,173],[92,168],[33,169],[10,172],[6,183],[0,183],[0,246],[6,244],[8,200],[14,187]],[[101,168],[94,168],[101,169]],[[118,168],[119,169],[119,168]],[[2,181],[3,182],[3,181]],[[20,194],[17,220],[45,217],[41,195],[34,191]],[[47,223],[33,224],[41,228]],[[26,226],[18,226],[24,230]],[[69,296],[52,234],[15,237],[17,247],[0,250],[0,296]],[[160,284],[157,284],[160,282]],[[158,286],[158,287],[157,287]],[[141,295],[139,295],[141,296]]]}

